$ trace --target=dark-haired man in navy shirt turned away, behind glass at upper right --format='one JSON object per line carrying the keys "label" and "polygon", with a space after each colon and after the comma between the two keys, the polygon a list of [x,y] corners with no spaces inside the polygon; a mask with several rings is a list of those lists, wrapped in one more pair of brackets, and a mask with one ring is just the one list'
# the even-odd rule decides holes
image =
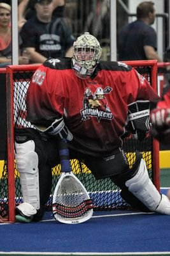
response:
{"label": "dark-haired man in navy shirt turned away, behind glass at upper right", "polygon": [[155,6],[143,1],[137,6],[137,20],[124,26],[118,33],[118,60],[158,60],[157,34],[152,28]]}

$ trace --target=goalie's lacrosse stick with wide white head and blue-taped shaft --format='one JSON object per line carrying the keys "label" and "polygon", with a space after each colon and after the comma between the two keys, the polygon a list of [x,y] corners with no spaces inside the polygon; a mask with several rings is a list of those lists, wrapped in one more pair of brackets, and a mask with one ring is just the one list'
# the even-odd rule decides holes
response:
{"label": "goalie's lacrosse stick with wide white head and blue-taped shaft", "polygon": [[92,200],[71,171],[66,140],[59,141],[59,155],[62,173],[53,193],[53,216],[62,223],[82,223],[92,217]]}

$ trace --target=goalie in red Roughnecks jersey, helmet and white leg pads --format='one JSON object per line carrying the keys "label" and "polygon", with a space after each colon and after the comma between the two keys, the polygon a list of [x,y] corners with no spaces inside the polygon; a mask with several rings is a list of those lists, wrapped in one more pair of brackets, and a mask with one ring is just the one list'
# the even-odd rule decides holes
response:
{"label": "goalie in red Roughnecks jersey, helmet and white leg pads", "polygon": [[31,79],[27,121],[36,129],[15,130],[24,197],[17,206],[18,221],[41,220],[63,138],[71,158],[83,161],[96,179],[110,178],[130,205],[170,215],[169,199],[153,185],[141,154],[136,152],[129,168],[122,148],[128,111],[134,131],[145,135],[150,129],[149,105],[159,96],[134,68],[100,61],[101,52],[98,40],[86,32],[74,42],[72,58],[46,60]]}

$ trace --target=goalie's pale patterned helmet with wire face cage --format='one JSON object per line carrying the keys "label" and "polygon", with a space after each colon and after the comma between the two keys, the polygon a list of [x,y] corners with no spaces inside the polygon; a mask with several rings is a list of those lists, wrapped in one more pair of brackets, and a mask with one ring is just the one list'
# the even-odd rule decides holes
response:
{"label": "goalie's pale patterned helmet with wire face cage", "polygon": [[101,45],[96,37],[85,32],[73,44],[72,68],[76,76],[86,79],[92,75],[101,58]]}

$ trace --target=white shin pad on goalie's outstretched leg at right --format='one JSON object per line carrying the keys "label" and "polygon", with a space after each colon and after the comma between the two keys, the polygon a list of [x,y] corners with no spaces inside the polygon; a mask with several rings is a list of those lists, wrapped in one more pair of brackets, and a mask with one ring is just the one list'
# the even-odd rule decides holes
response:
{"label": "white shin pad on goalie's outstretched leg at right", "polygon": [[155,188],[148,175],[146,163],[141,159],[138,172],[132,179],[125,182],[125,186],[136,196],[150,211],[156,211],[161,201],[161,195]]}

